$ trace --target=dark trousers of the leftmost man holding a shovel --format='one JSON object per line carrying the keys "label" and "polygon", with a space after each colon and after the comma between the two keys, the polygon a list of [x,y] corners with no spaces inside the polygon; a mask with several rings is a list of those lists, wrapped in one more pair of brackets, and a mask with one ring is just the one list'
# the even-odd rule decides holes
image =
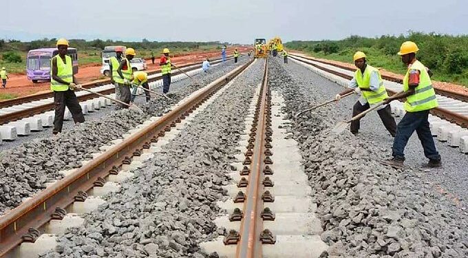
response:
{"label": "dark trousers of the leftmost man holding a shovel", "polygon": [[78,103],[78,98],[76,98],[75,92],[71,89],[68,89],[65,92],[54,92],[54,105],[55,117],[52,133],[56,134],[62,131],[65,106],[70,110],[75,123],[85,122],[85,116],[83,116],[83,111],[81,110],[80,103]]}

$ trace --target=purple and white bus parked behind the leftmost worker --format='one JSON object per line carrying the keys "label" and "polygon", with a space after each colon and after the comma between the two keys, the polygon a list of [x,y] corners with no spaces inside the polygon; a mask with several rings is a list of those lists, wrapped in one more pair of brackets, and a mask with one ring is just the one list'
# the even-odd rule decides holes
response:
{"label": "purple and white bus parked behind the leftmost worker", "polygon": [[[26,74],[28,80],[37,83],[39,80],[50,80],[50,59],[58,54],[56,48],[39,48],[30,50],[26,60]],[[69,47],[68,53],[72,57],[73,74],[78,74],[78,51]]]}

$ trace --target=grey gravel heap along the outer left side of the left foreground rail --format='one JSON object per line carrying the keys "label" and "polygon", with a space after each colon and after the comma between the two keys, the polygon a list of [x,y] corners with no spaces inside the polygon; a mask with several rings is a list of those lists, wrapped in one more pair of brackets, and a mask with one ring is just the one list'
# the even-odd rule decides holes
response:
{"label": "grey gravel heap along the outer left side of the left foreground rail", "polygon": [[[247,61],[248,58],[240,58],[237,65],[217,65],[209,74],[197,74],[195,78],[204,86]],[[99,147],[121,138],[150,116],[164,113],[202,86],[193,85],[189,79],[180,80],[171,85],[169,94],[173,101],[152,98],[150,103],[140,105],[145,114],[129,109],[106,111],[104,117],[64,129],[56,138],[39,134],[39,138],[31,137],[28,142],[3,150],[0,153],[0,215],[21,204],[23,198],[44,189],[46,182],[62,178],[58,171],[81,166],[81,162],[91,159],[91,154],[98,152]]]}

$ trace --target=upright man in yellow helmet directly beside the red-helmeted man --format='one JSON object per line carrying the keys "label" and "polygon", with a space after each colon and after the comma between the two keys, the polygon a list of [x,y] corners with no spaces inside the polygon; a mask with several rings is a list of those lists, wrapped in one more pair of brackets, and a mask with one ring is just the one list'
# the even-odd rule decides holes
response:
{"label": "upright man in yellow helmet directly beside the red-helmeted man", "polygon": [[[125,50],[125,58],[123,58],[117,69],[118,76],[114,77],[114,80],[118,83],[118,89],[120,91],[119,100],[123,103],[130,104],[131,92],[130,82],[134,80],[133,71],[131,69],[130,60],[136,56],[135,50],[131,47]],[[121,108],[128,108],[127,105],[119,104]]]}

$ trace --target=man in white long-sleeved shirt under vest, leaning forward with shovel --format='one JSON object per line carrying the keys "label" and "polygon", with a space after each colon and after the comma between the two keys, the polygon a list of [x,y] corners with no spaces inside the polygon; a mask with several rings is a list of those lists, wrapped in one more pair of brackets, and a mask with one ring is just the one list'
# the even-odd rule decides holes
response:
{"label": "man in white long-sleeved shirt under vest, leaning forward with shovel", "polygon": [[[383,85],[383,80],[379,69],[376,69],[367,64],[366,56],[363,52],[358,51],[353,56],[354,65],[358,68],[354,72],[354,77],[350,80],[348,87],[345,91],[337,94],[335,100],[339,100],[344,94],[349,92],[356,92],[361,95],[352,107],[352,116],[357,116],[363,111],[370,109],[371,106],[379,105],[385,98],[388,98],[387,89]],[[388,103],[387,103],[388,104]],[[392,109],[390,105],[383,105],[377,113],[379,114],[383,125],[390,132],[392,136],[396,134],[396,122],[392,116]],[[357,135],[361,123],[359,120],[351,122],[351,133]]]}

